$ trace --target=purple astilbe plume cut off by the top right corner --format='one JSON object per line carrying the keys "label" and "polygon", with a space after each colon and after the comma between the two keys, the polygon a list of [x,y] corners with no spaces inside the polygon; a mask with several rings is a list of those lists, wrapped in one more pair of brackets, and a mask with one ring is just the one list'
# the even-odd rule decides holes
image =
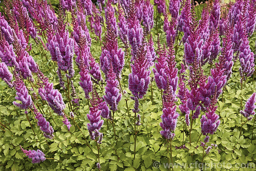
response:
{"label": "purple astilbe plume cut off by the top right corner", "polygon": [[250,1],[247,4],[247,13],[246,13],[246,31],[248,34],[252,35],[255,29],[256,22],[256,1]]}

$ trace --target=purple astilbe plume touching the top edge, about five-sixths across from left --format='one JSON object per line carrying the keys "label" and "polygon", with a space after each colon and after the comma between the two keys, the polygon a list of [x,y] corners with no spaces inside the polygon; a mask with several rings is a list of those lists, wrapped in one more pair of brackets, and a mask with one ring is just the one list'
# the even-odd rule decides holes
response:
{"label": "purple astilbe plume touching the top edge, about five-sixths across from left", "polygon": [[221,5],[219,4],[219,0],[215,0],[211,9],[211,14],[209,18],[210,31],[214,31],[216,28],[218,28],[220,17],[221,17]]}

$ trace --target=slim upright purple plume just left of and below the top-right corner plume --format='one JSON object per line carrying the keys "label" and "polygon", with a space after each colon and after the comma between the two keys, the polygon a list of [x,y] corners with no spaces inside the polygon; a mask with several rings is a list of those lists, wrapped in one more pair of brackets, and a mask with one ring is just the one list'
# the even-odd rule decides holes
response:
{"label": "slim upright purple plume just left of and below the top-right corner plume", "polygon": [[242,38],[246,32],[245,23],[246,21],[244,17],[244,11],[242,11],[241,14],[239,15],[239,18],[236,24],[234,25],[234,31],[233,31],[233,37],[232,37],[234,52],[239,51],[239,46],[241,45]]}

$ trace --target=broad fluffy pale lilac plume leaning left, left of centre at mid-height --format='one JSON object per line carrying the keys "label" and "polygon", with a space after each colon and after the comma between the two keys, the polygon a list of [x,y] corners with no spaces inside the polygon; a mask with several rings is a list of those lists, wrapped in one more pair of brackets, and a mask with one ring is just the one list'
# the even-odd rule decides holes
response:
{"label": "broad fluffy pale lilac plume leaning left, left of centre at mid-height", "polygon": [[66,108],[65,103],[63,102],[63,98],[59,92],[53,88],[53,83],[46,82],[43,84],[44,87],[39,88],[39,95],[43,100],[46,100],[49,106],[53,109],[55,113],[60,116],[63,116],[63,109]]}

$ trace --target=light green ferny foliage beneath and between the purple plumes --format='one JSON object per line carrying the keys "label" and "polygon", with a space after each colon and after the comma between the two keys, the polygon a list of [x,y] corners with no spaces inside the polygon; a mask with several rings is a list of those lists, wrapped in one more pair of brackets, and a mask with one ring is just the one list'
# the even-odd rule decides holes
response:
{"label": "light green ferny foliage beneath and between the purple plumes", "polygon": [[[52,0],[55,10],[58,1]],[[1,3],[2,4],[2,3]],[[198,19],[201,16],[203,5],[196,6],[196,15]],[[2,10],[2,8],[1,8]],[[154,10],[155,6],[154,6]],[[156,16],[156,12],[155,15]],[[68,18],[71,19],[71,14],[68,13]],[[163,32],[163,17],[158,16],[158,30],[160,32],[161,43],[165,43],[165,34]],[[67,26],[72,31],[72,26]],[[157,40],[156,26],[152,29],[154,42]],[[100,44],[96,41],[95,34],[91,33],[92,46],[91,53],[99,62],[99,56],[101,54]],[[102,34],[104,37],[104,33]],[[180,40],[182,35],[180,35]],[[255,53],[255,40],[256,34],[254,33],[250,38],[250,46]],[[35,41],[30,39],[29,43],[32,44],[32,51],[30,55],[40,66],[40,69],[49,78],[49,82],[54,83],[54,87],[59,89],[62,95],[63,89],[60,88],[57,76],[57,65],[51,60],[49,52],[45,51],[41,44],[36,45]],[[122,42],[119,42],[122,46]],[[155,43],[156,45],[156,43]],[[176,46],[176,45],[175,45]],[[155,47],[156,48],[156,47]],[[184,46],[181,44],[178,48],[176,55],[177,67],[180,69],[180,61],[183,57]],[[46,53],[46,57],[41,55],[42,52]],[[128,59],[126,59],[128,60]],[[241,129],[241,115],[240,103],[242,104],[255,92],[256,84],[253,82],[253,76],[247,79],[245,88],[240,90],[240,75],[238,68],[240,67],[239,61],[235,63],[233,73],[230,80],[224,89],[223,95],[218,100],[217,113],[220,116],[221,124],[218,127],[217,132],[210,136],[210,144],[217,144],[217,148],[211,149],[209,155],[205,156],[205,163],[231,163],[223,168],[208,168],[205,170],[251,170],[246,168],[234,167],[236,163],[241,166],[241,163],[252,164],[256,163],[256,129],[255,117],[243,125],[242,136],[239,138],[239,132]],[[210,66],[207,64],[203,67],[205,74],[209,73]],[[46,104],[42,104],[44,116],[51,123],[55,130],[54,140],[47,140],[35,122],[35,119],[31,112],[28,113],[29,120],[32,124],[34,135],[30,124],[24,114],[23,110],[20,110],[12,104],[15,100],[15,90],[9,88],[3,81],[0,82],[0,170],[97,170],[97,148],[95,141],[90,141],[89,133],[87,130],[88,119],[86,114],[89,112],[87,99],[84,98],[83,89],[79,86],[79,70],[75,68],[74,86],[76,92],[80,98],[80,106],[77,109],[78,115],[75,116],[75,120],[81,128],[85,138],[90,142],[90,146],[93,149],[91,151],[89,147],[85,145],[85,140],[82,133],[71,122],[72,127],[68,131],[66,126],[63,126],[62,120],[57,114],[53,113],[53,119],[49,115],[49,110]],[[115,112],[115,129],[117,134],[117,140],[114,137],[113,128],[110,123],[105,120],[101,132],[103,133],[103,141],[100,145],[100,164],[102,170],[166,170],[163,165],[160,168],[154,168],[154,161],[160,163],[167,163],[170,153],[167,152],[167,142],[163,139],[159,133],[161,127],[162,114],[162,102],[161,93],[157,88],[155,82],[151,82],[145,99],[140,101],[139,114],[142,116],[142,125],[139,127],[137,146],[136,146],[136,160],[133,161],[134,153],[134,139],[133,139],[133,116],[131,109],[133,108],[133,100],[130,99],[131,93],[128,89],[128,74],[129,74],[128,62],[123,70],[123,79],[121,81],[123,89],[127,91],[119,102],[118,111]],[[188,74],[188,71],[187,71]],[[151,77],[153,77],[153,72]],[[152,90],[151,90],[152,86]],[[31,88],[27,84],[28,88]],[[99,87],[98,87],[99,90]],[[153,94],[153,97],[152,97]],[[102,95],[101,95],[102,96]],[[63,100],[68,106],[68,99],[63,96]],[[128,110],[126,108],[126,101],[128,104]],[[41,103],[41,101],[38,101]],[[177,102],[180,104],[180,101]],[[179,111],[179,108],[177,108]],[[65,113],[69,113],[68,108],[65,109]],[[201,112],[201,114],[203,114]],[[188,144],[188,129],[185,126],[184,116],[178,118],[177,128],[175,130],[175,138],[172,142],[172,156],[173,161],[176,164],[195,163],[201,162],[203,148],[200,146],[200,141],[203,141],[204,136],[199,138],[201,133],[200,117],[196,120],[194,125],[191,141],[193,143]],[[56,123],[56,124],[55,124]],[[199,138],[199,139],[198,139]],[[197,142],[198,141],[198,142]],[[175,146],[181,146],[185,144],[187,149],[175,149]],[[26,149],[40,149],[45,153],[45,157],[54,158],[46,159],[40,164],[32,164],[31,159],[28,159],[19,148],[22,145]],[[199,146],[198,146],[199,145]],[[212,165],[213,166],[213,165]],[[176,170],[200,170],[199,168],[178,168]]]}

